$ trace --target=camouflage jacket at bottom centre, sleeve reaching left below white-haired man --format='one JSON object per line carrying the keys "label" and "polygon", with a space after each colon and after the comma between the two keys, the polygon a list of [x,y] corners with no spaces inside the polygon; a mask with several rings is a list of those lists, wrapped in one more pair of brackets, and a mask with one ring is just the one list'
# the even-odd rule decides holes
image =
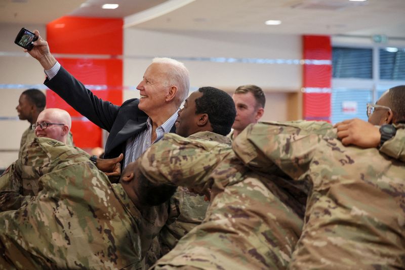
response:
{"label": "camouflage jacket at bottom centre, sleeve reaching left below white-haired man", "polygon": [[160,258],[155,269],[288,266],[303,220],[291,207],[299,203],[274,185],[272,176],[252,172],[226,145],[176,134],[166,134],[138,162],[153,183],[211,189],[203,222]]}

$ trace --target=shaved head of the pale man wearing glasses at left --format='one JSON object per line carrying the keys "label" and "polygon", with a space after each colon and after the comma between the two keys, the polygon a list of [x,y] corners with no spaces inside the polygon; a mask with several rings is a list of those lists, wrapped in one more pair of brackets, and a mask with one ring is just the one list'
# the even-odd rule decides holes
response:
{"label": "shaved head of the pale man wearing glasses at left", "polygon": [[[45,128],[41,123],[46,123]],[[46,137],[66,144],[72,119],[68,112],[62,109],[51,108],[42,111],[35,123],[35,136]]]}

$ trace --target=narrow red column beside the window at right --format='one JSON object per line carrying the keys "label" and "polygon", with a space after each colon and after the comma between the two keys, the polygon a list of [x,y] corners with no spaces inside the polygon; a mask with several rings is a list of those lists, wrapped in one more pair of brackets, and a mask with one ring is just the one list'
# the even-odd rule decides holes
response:
{"label": "narrow red column beside the window at right", "polygon": [[330,121],[332,47],[329,36],[303,36],[303,118]]}

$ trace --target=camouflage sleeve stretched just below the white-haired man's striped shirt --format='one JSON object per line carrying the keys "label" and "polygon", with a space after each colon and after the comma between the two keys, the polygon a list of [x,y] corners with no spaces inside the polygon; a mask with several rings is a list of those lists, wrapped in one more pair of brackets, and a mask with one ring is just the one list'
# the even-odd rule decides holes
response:
{"label": "camouflage sleeve stretched just below the white-haired man's striped shirt", "polygon": [[152,183],[201,187],[207,183],[214,165],[231,152],[229,146],[221,143],[165,134],[137,162]]}

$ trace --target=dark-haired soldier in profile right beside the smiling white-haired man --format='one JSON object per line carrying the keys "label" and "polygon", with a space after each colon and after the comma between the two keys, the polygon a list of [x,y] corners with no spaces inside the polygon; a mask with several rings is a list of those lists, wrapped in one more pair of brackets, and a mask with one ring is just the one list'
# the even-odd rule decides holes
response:
{"label": "dark-haired soldier in profile right beside the smiling white-haired man", "polygon": [[[179,111],[176,133],[190,139],[209,140],[230,146],[226,137],[235,119],[235,104],[224,91],[201,87],[193,92]],[[170,199],[169,218],[154,240],[145,259],[152,266],[158,258],[175,247],[180,238],[203,221],[209,202],[204,196],[179,187]]]}

